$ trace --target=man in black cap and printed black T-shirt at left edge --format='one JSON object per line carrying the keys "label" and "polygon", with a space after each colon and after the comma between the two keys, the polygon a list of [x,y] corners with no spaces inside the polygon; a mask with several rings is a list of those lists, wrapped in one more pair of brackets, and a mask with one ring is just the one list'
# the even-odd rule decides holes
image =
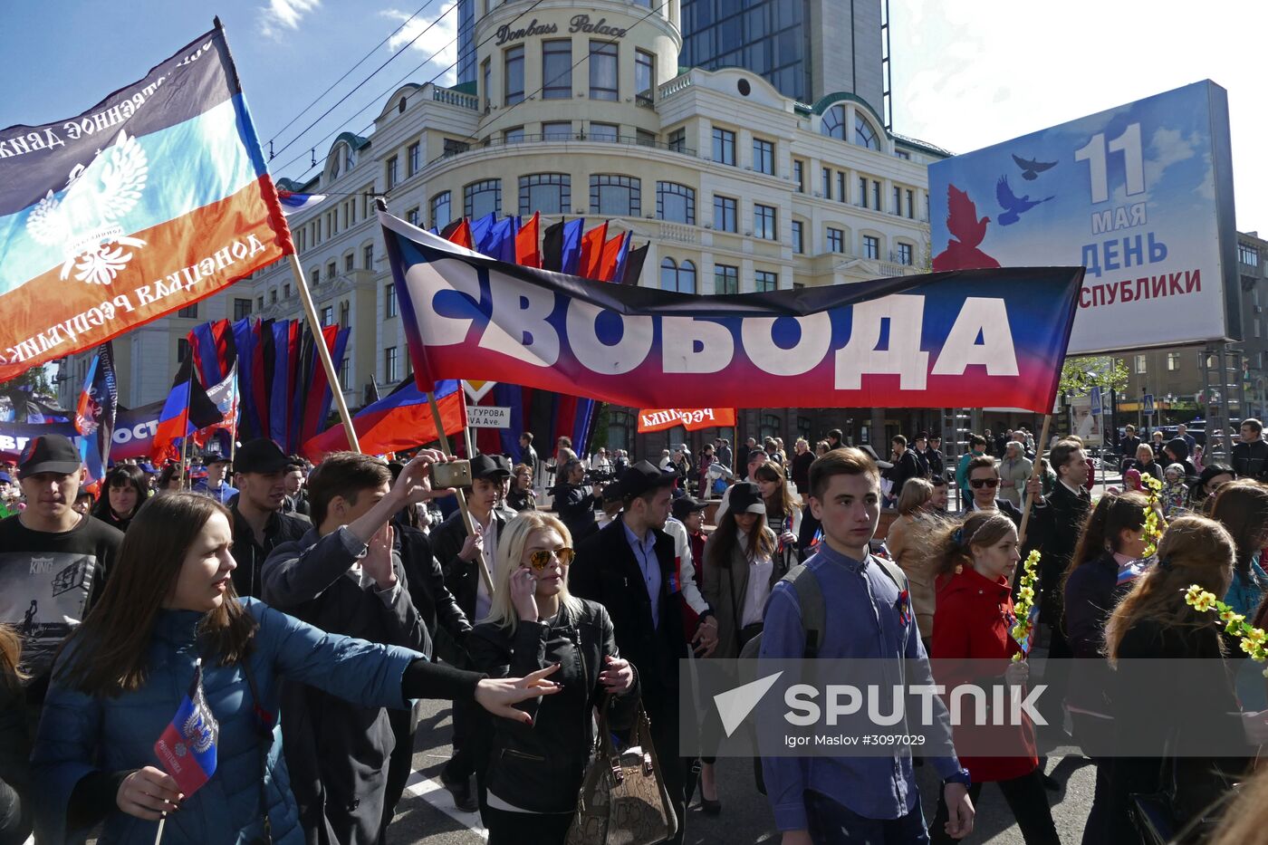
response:
{"label": "man in black cap and printed black T-shirt at left edge", "polygon": [[85,476],[70,438],[29,440],[18,462],[27,509],[0,520],[0,623],[22,636],[33,717],[58,645],[101,595],[123,542],[123,532],[75,511]]}

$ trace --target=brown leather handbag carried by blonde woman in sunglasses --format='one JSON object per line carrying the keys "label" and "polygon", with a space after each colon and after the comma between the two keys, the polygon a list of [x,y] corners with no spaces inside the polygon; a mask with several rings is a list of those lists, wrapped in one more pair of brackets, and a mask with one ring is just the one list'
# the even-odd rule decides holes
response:
{"label": "brown leather handbag carried by blonde woman in sunglasses", "polygon": [[581,782],[567,845],[654,845],[678,831],[678,818],[652,746],[652,727],[638,704],[633,745],[618,752],[607,727],[607,697],[598,708],[595,756]]}

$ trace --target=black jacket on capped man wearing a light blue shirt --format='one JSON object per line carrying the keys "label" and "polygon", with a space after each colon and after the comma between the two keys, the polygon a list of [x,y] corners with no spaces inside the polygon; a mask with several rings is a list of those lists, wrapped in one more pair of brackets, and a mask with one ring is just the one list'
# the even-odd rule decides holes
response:
{"label": "black jacket on capped man wearing a light blue shirt", "polygon": [[581,599],[598,601],[607,609],[616,629],[616,647],[634,664],[643,699],[653,713],[677,708],[678,658],[686,657],[682,631],[682,598],[673,589],[673,538],[656,532],[656,557],[661,565],[657,595],[661,624],[652,624],[648,596],[634,549],[625,539],[625,521],[615,519],[577,547],[568,572],[568,589]]}

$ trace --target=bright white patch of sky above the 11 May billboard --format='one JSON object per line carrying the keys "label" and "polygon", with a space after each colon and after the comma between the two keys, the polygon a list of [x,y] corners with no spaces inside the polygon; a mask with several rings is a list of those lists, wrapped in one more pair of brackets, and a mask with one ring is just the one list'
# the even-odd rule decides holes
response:
{"label": "bright white patch of sky above the 11 May billboard", "polygon": [[891,0],[890,10],[898,132],[969,152],[1212,79],[1229,90],[1238,226],[1268,227],[1258,67],[1268,4]]}

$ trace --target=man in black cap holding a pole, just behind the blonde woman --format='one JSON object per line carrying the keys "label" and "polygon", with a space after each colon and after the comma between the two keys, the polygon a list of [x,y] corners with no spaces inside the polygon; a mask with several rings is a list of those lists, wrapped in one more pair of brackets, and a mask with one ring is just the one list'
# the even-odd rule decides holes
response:
{"label": "man in black cap holding a pole, just behind the blonde woman", "polygon": [[[502,495],[502,481],[510,478],[505,468],[492,455],[472,458],[472,486],[467,488],[467,510],[472,516],[474,533],[468,534],[462,511],[431,533],[431,548],[445,573],[445,586],[458,600],[463,614],[473,623],[488,615],[489,595],[479,573],[479,556],[483,553],[489,577],[497,581],[497,540],[506,528],[507,511],[497,506]],[[514,516],[511,511],[511,516]],[[477,808],[470,778],[476,773],[477,731],[479,708],[474,703],[454,702],[454,756],[440,771],[440,783],[454,796],[454,804],[465,812]]]}

